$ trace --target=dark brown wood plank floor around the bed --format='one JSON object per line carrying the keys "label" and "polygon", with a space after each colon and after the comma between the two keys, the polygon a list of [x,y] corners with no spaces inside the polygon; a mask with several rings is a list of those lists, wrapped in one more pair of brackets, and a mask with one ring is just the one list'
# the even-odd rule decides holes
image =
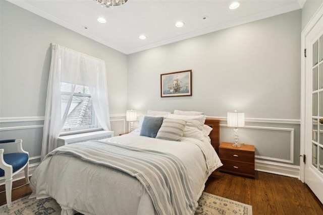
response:
{"label": "dark brown wood plank floor around the bed", "polygon": [[[25,180],[16,181],[19,187]],[[5,186],[0,186],[0,205],[6,204]],[[323,205],[297,178],[257,172],[255,179],[217,172],[205,185],[205,192],[252,205],[254,215],[323,214]],[[13,201],[31,193],[29,185],[12,191]]]}

